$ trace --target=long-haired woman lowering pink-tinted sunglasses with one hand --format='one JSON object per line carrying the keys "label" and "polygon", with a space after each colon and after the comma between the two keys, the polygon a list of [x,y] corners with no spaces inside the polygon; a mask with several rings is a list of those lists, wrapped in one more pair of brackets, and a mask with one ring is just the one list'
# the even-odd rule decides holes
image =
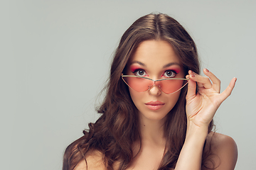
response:
{"label": "long-haired woman lowering pink-tinted sunglasses with one hand", "polygon": [[115,52],[102,115],[68,146],[63,170],[234,169],[234,140],[211,130],[236,78],[220,94],[218,78],[199,68],[196,45],[177,21],[139,18]]}

